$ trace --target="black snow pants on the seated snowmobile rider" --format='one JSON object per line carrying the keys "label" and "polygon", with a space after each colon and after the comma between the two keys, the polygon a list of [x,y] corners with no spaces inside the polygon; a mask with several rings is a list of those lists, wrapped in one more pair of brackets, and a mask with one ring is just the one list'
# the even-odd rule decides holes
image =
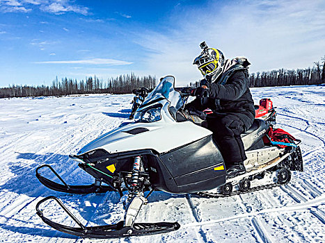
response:
{"label": "black snow pants on the seated snowmobile rider", "polygon": [[207,117],[207,128],[212,131],[214,142],[219,146],[225,167],[242,163],[246,154],[241,133],[253,124],[251,112],[227,113],[224,116]]}

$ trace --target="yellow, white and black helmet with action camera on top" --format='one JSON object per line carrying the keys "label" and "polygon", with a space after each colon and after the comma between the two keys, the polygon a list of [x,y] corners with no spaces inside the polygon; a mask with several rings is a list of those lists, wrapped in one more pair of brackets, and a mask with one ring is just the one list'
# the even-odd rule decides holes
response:
{"label": "yellow, white and black helmet with action camera on top", "polygon": [[206,77],[215,76],[216,78],[221,74],[223,68],[223,62],[225,58],[223,53],[218,49],[209,48],[205,42],[200,44],[203,51],[196,59],[194,59],[193,65],[198,65],[198,69]]}

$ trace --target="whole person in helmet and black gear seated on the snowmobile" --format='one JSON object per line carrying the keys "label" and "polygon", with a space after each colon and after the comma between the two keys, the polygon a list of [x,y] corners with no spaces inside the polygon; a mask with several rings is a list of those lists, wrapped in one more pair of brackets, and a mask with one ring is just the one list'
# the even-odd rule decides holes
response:
{"label": "whole person in helmet and black gear seated on the snowmobile", "polygon": [[207,128],[212,131],[225,161],[228,178],[246,173],[244,160],[246,154],[241,133],[253,124],[255,117],[254,103],[248,88],[248,65],[246,58],[224,60],[218,49],[203,49],[193,65],[203,74],[200,87],[191,90],[196,99],[187,104],[189,112],[203,111],[210,108],[213,113],[207,116]]}

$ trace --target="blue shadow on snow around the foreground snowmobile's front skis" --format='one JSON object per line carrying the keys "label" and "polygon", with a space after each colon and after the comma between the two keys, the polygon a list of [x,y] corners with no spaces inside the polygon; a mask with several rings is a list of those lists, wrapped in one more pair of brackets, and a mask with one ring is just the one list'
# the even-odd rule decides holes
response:
{"label": "blue shadow on snow around the foreground snowmobile's front skis", "polygon": [[[48,189],[42,185],[35,176],[35,169],[43,164],[48,164],[53,167],[56,172],[65,180],[66,183],[71,185],[88,185],[93,183],[94,179],[92,176],[87,174],[85,171],[78,167],[78,163],[70,160],[68,156],[56,154],[56,153],[47,153],[45,155],[38,155],[35,153],[18,153],[17,159],[20,160],[32,160],[32,163],[25,165],[17,162],[9,162],[10,172],[15,174],[15,176],[10,176],[10,179],[6,181],[3,185],[0,186],[2,192],[14,192],[16,194],[25,194],[32,198],[38,198],[39,196],[57,196],[65,205],[74,205],[73,210],[78,210],[79,215],[86,220],[95,222],[95,224],[103,225],[107,224],[104,219],[113,219],[113,222],[110,224],[115,224],[120,220],[123,220],[124,212],[122,209],[122,203],[120,202],[120,197],[118,192],[107,192],[106,194],[65,194],[63,192],[56,192]],[[50,180],[58,181],[56,176],[48,169],[40,169],[40,174],[49,178]],[[148,192],[146,192],[147,194]],[[154,192],[149,197],[149,203],[155,203],[158,201],[165,201],[171,198],[184,197],[184,195],[177,194],[168,194],[166,192]],[[24,203],[24,202],[23,202]],[[54,203],[49,201],[49,203]],[[106,206],[102,206],[102,204]],[[46,204],[46,203],[45,203]],[[19,210],[16,216],[19,217],[21,211],[24,208],[27,208],[31,205],[31,201],[27,202],[22,209]],[[56,204],[54,204],[56,205]],[[100,207],[102,206],[102,207]],[[110,206],[111,208],[107,207]],[[42,206],[41,206],[42,207]],[[59,206],[58,206],[59,207]],[[68,206],[68,208],[70,208]],[[46,211],[46,207],[43,206],[43,210]],[[70,208],[71,209],[71,208]],[[82,209],[82,210],[81,210]],[[93,218],[96,211],[102,215],[107,215],[107,217],[99,217],[96,219]],[[36,212],[36,211],[35,211]],[[118,213],[118,217],[112,217]],[[97,214],[95,214],[97,215]],[[68,215],[67,215],[68,216]],[[79,217],[80,217],[79,216]],[[4,217],[0,215],[0,217]],[[78,217],[78,216],[77,216]],[[8,218],[8,220],[16,220],[15,218]],[[22,221],[26,225],[31,224],[31,221]],[[58,222],[60,223],[60,222]],[[8,231],[19,232],[28,235],[41,235],[45,237],[66,237],[66,238],[76,238],[73,235],[66,235],[65,233],[59,233],[52,229],[43,229],[40,228],[38,224],[35,224],[33,228],[24,227],[24,226],[10,226],[10,224],[0,224],[1,228],[5,228]],[[45,226],[45,224],[44,224]]]}

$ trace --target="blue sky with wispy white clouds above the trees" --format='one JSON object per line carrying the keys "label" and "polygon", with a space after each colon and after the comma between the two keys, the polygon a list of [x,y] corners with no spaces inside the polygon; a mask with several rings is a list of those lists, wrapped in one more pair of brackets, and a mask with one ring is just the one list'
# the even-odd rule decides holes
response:
{"label": "blue sky with wispy white clouds above the trees", "polygon": [[251,72],[312,66],[325,55],[325,1],[0,0],[0,87],[173,75],[197,81],[205,40]]}

